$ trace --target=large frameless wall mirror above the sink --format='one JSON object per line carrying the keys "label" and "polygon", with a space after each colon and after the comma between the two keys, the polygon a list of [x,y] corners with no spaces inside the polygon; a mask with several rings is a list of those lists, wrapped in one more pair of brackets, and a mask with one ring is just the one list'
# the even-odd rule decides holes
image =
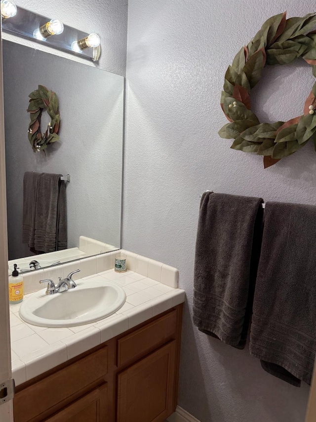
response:
{"label": "large frameless wall mirror above the sink", "polygon": [[[17,263],[28,271],[118,249],[124,78],[3,41],[3,82],[9,268]],[[56,93],[60,113],[60,139],[45,152],[32,148],[28,132],[29,95],[39,86]],[[44,108],[41,133],[48,123]],[[57,182],[56,190],[54,175],[70,181]]]}

